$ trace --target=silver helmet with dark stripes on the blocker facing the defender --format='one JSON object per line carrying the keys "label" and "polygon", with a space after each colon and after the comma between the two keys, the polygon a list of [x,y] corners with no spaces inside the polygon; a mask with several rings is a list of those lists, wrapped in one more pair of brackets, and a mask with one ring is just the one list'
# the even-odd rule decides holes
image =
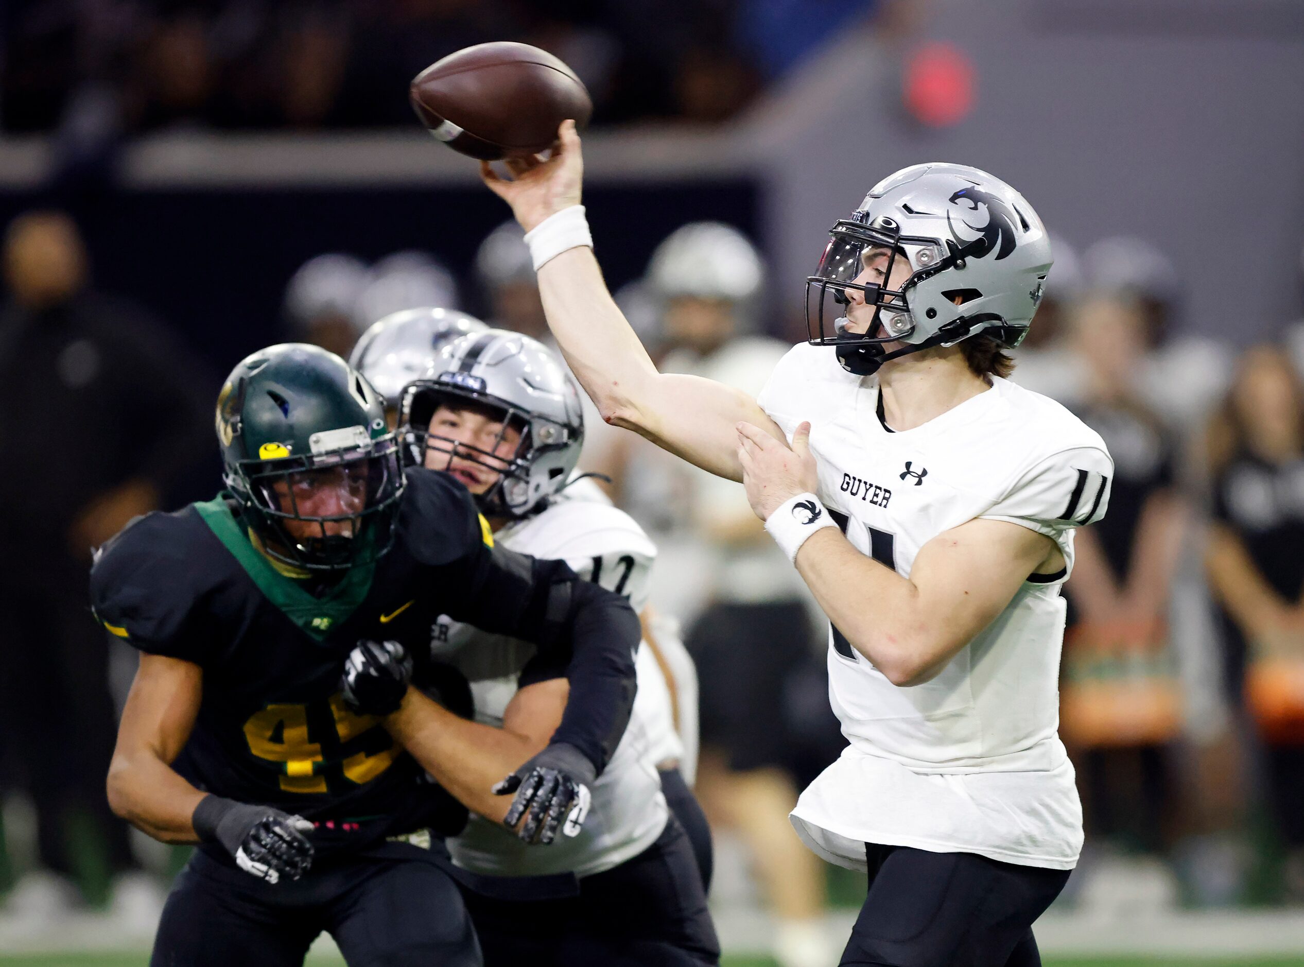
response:
{"label": "silver helmet with dark stripes on the blocker facing the defender", "polygon": [[[477,448],[432,433],[430,419],[441,405],[501,415],[498,438]],[[421,463],[438,453],[447,454],[445,467],[458,458],[498,474],[476,497],[488,515],[524,517],[541,508],[566,485],[584,445],[574,377],[546,346],[506,329],[463,335],[439,350],[421,378],[403,390],[399,422],[399,436],[415,445]],[[520,433],[520,442],[503,457],[509,429]]]}

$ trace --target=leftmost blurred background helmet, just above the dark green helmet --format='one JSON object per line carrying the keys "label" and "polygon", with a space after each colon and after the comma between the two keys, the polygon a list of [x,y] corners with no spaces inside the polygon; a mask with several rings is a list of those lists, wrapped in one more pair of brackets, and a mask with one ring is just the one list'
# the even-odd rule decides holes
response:
{"label": "leftmost blurred background helmet, just above the dark green helmet", "polygon": [[286,317],[295,335],[347,356],[363,330],[355,308],[370,281],[370,269],[356,256],[327,252],[309,258],[286,286]]}

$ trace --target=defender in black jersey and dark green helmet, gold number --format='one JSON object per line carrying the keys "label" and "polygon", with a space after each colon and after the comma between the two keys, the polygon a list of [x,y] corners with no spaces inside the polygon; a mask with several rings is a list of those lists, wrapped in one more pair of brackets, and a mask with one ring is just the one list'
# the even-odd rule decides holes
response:
{"label": "defender in black jersey and dark green helmet, gold number", "polygon": [[[600,773],[632,705],[638,619],[563,562],[496,548],[452,478],[402,472],[381,398],[329,352],[244,360],[218,435],[228,491],[136,521],[91,573],[96,617],[142,652],[110,801],[200,843],[151,963],[299,964],[327,930],[353,964],[479,964],[441,842],[466,810],[349,709],[344,659],[360,639],[428,654],[438,615],[535,641],[540,673],[571,680],[545,753]],[[449,669],[426,660],[416,679],[469,710]],[[507,773],[572,786],[528,782],[531,762]]]}

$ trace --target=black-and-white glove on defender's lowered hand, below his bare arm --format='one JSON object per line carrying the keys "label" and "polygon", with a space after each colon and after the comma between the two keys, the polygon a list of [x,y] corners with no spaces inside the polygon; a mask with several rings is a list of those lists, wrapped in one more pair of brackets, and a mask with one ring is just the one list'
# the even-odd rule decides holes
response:
{"label": "black-and-white glove on defender's lowered hand, below his bare arm", "polygon": [[271,806],[205,796],[190,817],[200,839],[222,843],[245,873],[269,883],[299,880],[313,863],[313,825]]}

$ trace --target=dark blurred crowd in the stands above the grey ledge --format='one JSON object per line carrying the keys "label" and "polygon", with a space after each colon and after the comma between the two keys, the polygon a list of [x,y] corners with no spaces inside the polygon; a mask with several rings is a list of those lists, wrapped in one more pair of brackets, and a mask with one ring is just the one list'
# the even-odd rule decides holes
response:
{"label": "dark blurred crowd in the stands above the grey ledge", "polygon": [[719,121],[875,0],[9,0],[0,129],[407,124],[422,68],[486,40],[556,54],[595,124]]}

